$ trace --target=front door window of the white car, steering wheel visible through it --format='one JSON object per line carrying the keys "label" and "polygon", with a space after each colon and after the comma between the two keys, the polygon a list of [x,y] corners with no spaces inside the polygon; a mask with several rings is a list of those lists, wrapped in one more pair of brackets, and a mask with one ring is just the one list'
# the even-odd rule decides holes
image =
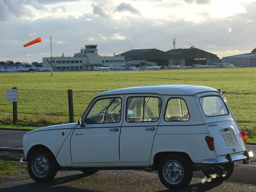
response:
{"label": "front door window of the white car, steering wheel visible through it", "polygon": [[103,98],[98,99],[86,116],[85,123],[113,123],[121,120],[122,99]]}

